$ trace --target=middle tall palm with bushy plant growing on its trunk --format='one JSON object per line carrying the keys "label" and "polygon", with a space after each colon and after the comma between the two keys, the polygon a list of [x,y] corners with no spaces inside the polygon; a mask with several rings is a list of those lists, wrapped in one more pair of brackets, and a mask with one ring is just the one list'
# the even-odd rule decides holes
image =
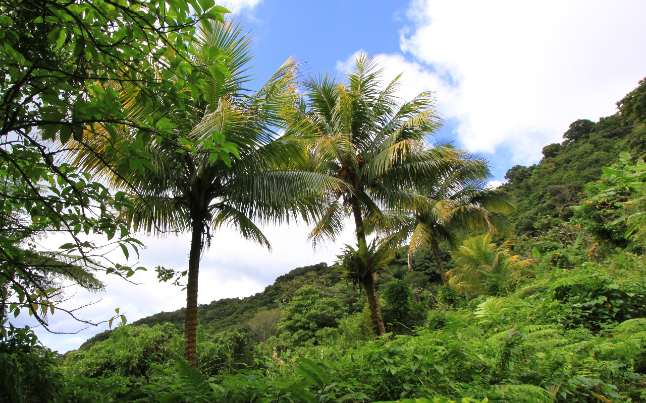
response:
{"label": "middle tall palm with bushy plant growing on its trunk", "polygon": [[[366,235],[384,224],[384,206],[417,197],[406,189],[461,161],[461,150],[425,146],[426,137],[440,126],[432,93],[399,103],[395,96],[399,77],[382,83],[381,76],[375,59],[360,55],[354,71],[346,75],[347,84],[327,74],[304,83],[304,113],[317,133],[311,166],[349,187],[330,195],[331,204],[309,234],[315,246],[323,239],[335,239],[346,217],[352,217],[362,248],[368,244]],[[366,275],[362,282],[375,328],[384,335],[375,279]]]}

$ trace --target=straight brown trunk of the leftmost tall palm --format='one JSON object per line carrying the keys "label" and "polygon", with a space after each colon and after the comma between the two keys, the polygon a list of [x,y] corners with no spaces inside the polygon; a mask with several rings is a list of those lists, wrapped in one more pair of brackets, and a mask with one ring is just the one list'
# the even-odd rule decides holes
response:
{"label": "straight brown trunk of the leftmost tall palm", "polygon": [[202,231],[204,222],[193,220],[191,252],[189,254],[189,279],[186,283],[186,319],[184,321],[184,359],[193,368],[196,365],[198,327],[198,272],[202,253]]}

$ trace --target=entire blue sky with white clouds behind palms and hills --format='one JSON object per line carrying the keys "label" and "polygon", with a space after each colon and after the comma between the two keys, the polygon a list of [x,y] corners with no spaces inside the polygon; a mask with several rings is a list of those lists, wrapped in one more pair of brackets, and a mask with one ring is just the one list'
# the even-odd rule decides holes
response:
{"label": "entire blue sky with white clouds behind palms and hills", "polygon": [[[303,68],[309,72],[342,74],[360,51],[368,52],[384,66],[386,78],[403,72],[403,98],[436,91],[446,122],[437,137],[486,155],[498,181],[516,164],[538,162],[541,148],[560,142],[572,121],[596,121],[614,113],[614,103],[646,75],[646,2],[641,0],[236,4],[255,35],[258,83],[290,56],[307,61]],[[302,223],[264,231],[273,253],[250,245],[233,230],[215,234],[201,262],[200,303],[253,295],[293,268],[333,262],[342,245],[353,242],[348,229],[337,242],[315,252],[306,242],[309,229]],[[78,314],[99,321],[120,308],[132,321],[185,306],[180,288],[159,284],[152,268],[185,270],[189,237],[140,239],[148,248],[139,262],[128,263],[151,271],[135,275],[138,284],[103,277],[105,293],[79,291],[69,307],[98,301]],[[43,243],[55,248],[64,241]],[[21,316],[14,322],[30,320]],[[50,323],[55,331],[79,331],[37,331],[45,345],[59,351],[78,348],[107,328],[82,329],[60,313]]]}

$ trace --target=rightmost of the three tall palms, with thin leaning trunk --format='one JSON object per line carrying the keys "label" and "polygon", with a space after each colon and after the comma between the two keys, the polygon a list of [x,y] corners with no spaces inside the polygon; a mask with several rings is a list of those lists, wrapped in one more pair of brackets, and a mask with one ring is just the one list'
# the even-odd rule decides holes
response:
{"label": "rightmost of the three tall palms, with thin leaning trunk", "polygon": [[[481,157],[464,157],[461,168],[435,177],[417,186],[419,199],[402,199],[395,220],[399,224],[399,237],[409,239],[408,266],[412,270],[412,257],[423,246],[431,246],[444,284],[447,282],[439,242],[455,247],[459,230],[485,230],[497,233],[503,222],[496,213],[510,213],[514,206],[506,194],[488,188],[491,176],[488,163]],[[408,202],[412,200],[413,202]],[[421,201],[421,202],[420,202]]]}

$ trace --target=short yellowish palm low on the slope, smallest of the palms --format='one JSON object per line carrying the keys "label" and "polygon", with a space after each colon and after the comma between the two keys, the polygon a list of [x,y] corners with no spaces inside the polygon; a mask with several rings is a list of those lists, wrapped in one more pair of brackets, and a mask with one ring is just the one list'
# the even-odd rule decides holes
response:
{"label": "short yellowish palm low on the slope, smallest of the palms", "polygon": [[479,295],[488,280],[494,278],[503,284],[515,277],[521,269],[531,266],[532,260],[513,255],[513,245],[505,241],[498,246],[488,233],[465,239],[453,253],[458,267],[448,271],[449,284],[459,292]]}

